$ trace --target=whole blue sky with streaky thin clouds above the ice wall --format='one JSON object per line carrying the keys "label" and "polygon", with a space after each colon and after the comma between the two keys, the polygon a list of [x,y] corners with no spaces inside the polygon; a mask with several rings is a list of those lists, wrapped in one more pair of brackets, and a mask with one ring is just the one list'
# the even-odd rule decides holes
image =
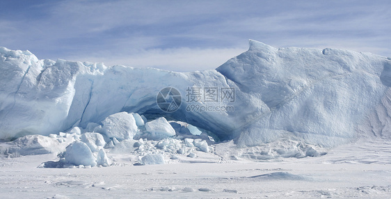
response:
{"label": "whole blue sky with streaky thin clouds above the ice wall", "polygon": [[338,48],[391,57],[391,1],[0,1],[0,46],[40,59],[189,72],[248,49]]}

